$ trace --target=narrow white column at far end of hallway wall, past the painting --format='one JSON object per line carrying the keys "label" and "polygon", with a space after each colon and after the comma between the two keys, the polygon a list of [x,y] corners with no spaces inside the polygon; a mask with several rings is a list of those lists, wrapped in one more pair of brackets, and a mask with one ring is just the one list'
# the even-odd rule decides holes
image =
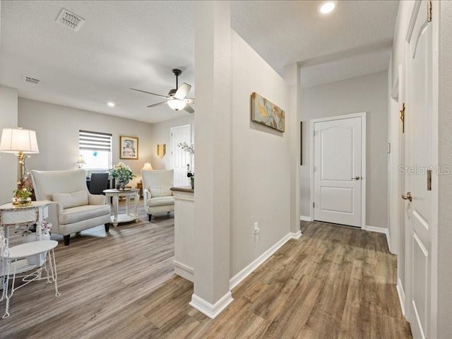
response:
{"label": "narrow white column at far end of hallway wall, past the painting", "polygon": [[290,111],[287,126],[290,129],[290,232],[301,235],[299,221],[299,167],[300,167],[300,124],[298,102],[300,91],[299,66],[297,63],[287,65],[284,79],[290,85]]}

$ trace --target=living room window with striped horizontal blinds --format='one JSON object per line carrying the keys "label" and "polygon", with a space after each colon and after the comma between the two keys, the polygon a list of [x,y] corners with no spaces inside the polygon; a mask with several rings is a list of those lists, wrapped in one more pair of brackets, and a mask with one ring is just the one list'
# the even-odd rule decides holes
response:
{"label": "living room window with striped horizontal blinds", "polygon": [[105,170],[112,167],[112,134],[79,131],[78,148],[85,160],[85,169]]}

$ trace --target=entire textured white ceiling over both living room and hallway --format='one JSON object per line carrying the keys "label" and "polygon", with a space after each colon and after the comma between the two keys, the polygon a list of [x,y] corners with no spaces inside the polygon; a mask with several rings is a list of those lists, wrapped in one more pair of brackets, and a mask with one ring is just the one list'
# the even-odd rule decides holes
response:
{"label": "entire textured white ceiling over both living room and hallway", "polygon": [[[387,69],[398,1],[232,1],[231,25],[280,74],[302,65],[302,85]],[[192,1],[6,1],[1,4],[0,83],[20,97],[157,122],[188,113],[152,109],[179,81],[194,85]],[[65,8],[78,32],[56,23]],[[24,83],[23,76],[40,79]],[[194,97],[192,87],[189,97]],[[114,108],[106,102],[116,102]],[[195,105],[196,108],[196,105]]]}

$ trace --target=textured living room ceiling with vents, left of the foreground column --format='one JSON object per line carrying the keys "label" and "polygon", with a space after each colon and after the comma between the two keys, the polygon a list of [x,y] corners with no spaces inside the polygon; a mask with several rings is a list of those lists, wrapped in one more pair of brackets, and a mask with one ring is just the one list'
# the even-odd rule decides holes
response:
{"label": "textured living room ceiling with vents, left of the foreground column", "polygon": [[[65,8],[78,32],[56,23]],[[189,114],[146,108],[179,81],[194,85],[194,6],[181,1],[1,1],[0,83],[19,96],[157,122]],[[39,85],[23,76],[41,80]],[[194,96],[194,88],[189,97]],[[117,106],[107,107],[108,101]]]}

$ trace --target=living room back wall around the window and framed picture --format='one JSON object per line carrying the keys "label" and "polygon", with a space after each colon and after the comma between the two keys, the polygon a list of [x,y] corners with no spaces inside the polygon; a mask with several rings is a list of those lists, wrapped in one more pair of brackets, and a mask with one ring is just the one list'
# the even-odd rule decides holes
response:
{"label": "living room back wall around the window and framed picture", "polygon": [[[34,129],[40,153],[28,160],[28,169],[60,170],[76,168],[78,131],[112,133],[112,162],[129,165],[141,179],[141,168],[151,157],[152,125],[107,114],[19,98],[18,121],[23,128]],[[138,160],[119,160],[119,136],[138,136]]]}

